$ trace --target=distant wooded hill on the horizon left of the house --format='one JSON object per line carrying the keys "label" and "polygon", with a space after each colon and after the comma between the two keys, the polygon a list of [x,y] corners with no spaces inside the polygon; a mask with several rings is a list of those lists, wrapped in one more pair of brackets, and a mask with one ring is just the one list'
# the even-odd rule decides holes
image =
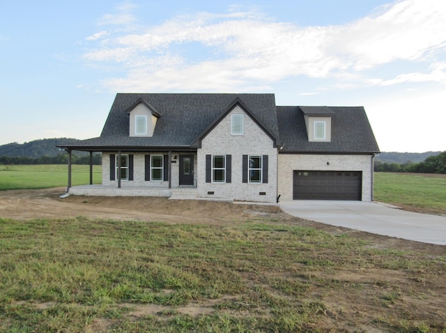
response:
{"label": "distant wooded hill on the horizon left of the house", "polygon": [[23,144],[13,142],[8,143],[7,145],[0,146],[0,156],[31,158],[38,158],[40,156],[54,157],[63,153],[63,151],[57,148],[56,145],[66,145],[69,142],[77,141],[80,140],[70,138],[55,138],[34,140],[25,142]]}

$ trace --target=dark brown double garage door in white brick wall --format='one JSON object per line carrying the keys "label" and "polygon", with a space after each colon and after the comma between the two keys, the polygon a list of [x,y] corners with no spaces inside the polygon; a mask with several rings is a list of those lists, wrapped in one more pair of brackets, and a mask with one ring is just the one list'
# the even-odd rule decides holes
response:
{"label": "dark brown double garage door in white brick wall", "polygon": [[294,200],[361,200],[360,171],[294,171]]}

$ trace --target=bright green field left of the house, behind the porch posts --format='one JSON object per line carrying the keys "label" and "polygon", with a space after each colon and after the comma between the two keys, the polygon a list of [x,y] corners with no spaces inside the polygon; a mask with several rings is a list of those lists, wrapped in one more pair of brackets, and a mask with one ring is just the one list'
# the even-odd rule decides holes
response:
{"label": "bright green field left of the house, behind the porch posts", "polygon": [[[101,165],[93,165],[93,183],[100,184]],[[89,184],[90,165],[72,165],[72,186]],[[0,191],[68,185],[67,165],[0,165]]]}

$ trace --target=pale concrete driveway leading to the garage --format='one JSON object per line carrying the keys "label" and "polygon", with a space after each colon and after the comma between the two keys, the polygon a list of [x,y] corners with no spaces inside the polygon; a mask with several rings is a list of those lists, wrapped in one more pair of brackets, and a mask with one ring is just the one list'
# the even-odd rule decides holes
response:
{"label": "pale concrete driveway leading to the garage", "polygon": [[292,216],[378,235],[446,244],[446,216],[406,212],[379,202],[285,200],[279,206]]}

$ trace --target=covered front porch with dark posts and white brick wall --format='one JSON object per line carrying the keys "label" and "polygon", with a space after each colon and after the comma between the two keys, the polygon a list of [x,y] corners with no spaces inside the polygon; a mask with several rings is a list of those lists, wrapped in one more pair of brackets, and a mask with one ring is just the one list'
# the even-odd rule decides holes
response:
{"label": "covered front porch with dark posts and white brick wall", "polygon": [[[157,196],[196,198],[194,172],[197,152],[193,149],[144,147],[65,147],[68,152],[69,195]],[[89,151],[89,184],[72,186],[72,151]],[[93,184],[93,153],[102,153],[102,182]],[[125,156],[125,158],[123,158]],[[156,156],[159,165],[153,163]],[[123,164],[121,161],[125,161]],[[155,179],[155,176],[157,178]]]}

